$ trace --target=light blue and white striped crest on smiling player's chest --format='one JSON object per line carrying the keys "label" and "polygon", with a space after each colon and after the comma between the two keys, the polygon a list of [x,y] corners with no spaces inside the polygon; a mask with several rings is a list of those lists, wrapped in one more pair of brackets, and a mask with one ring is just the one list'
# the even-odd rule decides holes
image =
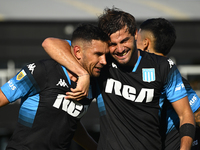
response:
{"label": "light blue and white striped crest on smiling player's chest", "polygon": [[144,82],[155,81],[156,80],[155,69],[154,68],[142,69],[142,76]]}

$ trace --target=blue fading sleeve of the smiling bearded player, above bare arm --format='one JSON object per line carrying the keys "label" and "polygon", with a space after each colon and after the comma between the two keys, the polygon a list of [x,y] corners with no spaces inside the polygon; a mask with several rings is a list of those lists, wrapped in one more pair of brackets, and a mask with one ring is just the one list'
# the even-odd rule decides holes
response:
{"label": "blue fading sleeve of the smiling bearded player, above bare arm", "polygon": [[[163,63],[165,63],[164,67],[162,66]],[[172,103],[187,96],[187,92],[181,74],[174,62],[167,58],[167,61],[163,63],[161,63],[161,74],[165,77],[164,93],[166,98]]]}

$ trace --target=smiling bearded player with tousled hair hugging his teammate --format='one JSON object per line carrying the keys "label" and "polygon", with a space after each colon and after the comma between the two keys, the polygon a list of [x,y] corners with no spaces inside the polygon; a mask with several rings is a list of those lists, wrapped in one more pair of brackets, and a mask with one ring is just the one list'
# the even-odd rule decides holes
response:
{"label": "smiling bearded player with tousled hair hugging his teammate", "polygon": [[[137,50],[136,22],[131,14],[106,8],[98,25],[110,37],[108,64],[97,81],[101,92],[97,97],[100,111],[98,150],[160,150],[162,93],[180,118],[180,128],[183,129],[181,149],[189,149],[193,137],[184,128],[189,128],[193,135],[194,116],[176,65],[169,58]],[[70,67],[67,61],[74,60],[66,50],[67,43],[61,40],[63,44],[60,41],[58,45],[58,40],[46,39],[43,47],[53,59]],[[80,70],[83,70],[81,66]],[[67,95],[71,98],[82,96],[81,92],[67,92]]]}

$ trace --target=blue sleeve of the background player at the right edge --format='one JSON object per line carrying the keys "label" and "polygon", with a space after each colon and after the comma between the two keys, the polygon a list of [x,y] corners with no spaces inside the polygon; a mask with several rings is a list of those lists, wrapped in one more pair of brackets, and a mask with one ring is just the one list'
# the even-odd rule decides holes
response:
{"label": "blue sleeve of the background player at the right edge", "polygon": [[200,107],[200,98],[198,97],[196,92],[192,89],[192,87],[190,86],[190,83],[185,78],[182,78],[182,80],[185,85],[185,89],[187,91],[187,95],[188,95],[188,99],[189,99],[189,103],[192,108],[192,111],[195,112]]}

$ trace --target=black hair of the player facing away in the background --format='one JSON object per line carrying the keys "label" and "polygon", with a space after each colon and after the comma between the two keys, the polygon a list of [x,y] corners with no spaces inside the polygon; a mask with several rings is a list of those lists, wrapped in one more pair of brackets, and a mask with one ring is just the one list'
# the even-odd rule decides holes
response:
{"label": "black hair of the player facing away in the background", "polygon": [[140,25],[141,30],[150,31],[155,38],[154,49],[167,55],[176,41],[176,30],[172,23],[164,18],[152,18]]}

